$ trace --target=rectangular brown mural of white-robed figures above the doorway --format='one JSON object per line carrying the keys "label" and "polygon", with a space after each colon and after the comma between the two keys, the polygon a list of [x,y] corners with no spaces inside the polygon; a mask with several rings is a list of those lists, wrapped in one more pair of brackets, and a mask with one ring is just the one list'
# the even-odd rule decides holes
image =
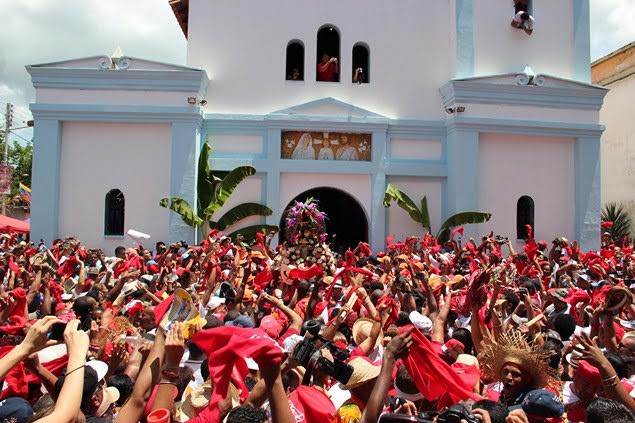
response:
{"label": "rectangular brown mural of white-robed figures above the doorway", "polygon": [[281,158],[291,160],[371,160],[371,134],[282,132]]}

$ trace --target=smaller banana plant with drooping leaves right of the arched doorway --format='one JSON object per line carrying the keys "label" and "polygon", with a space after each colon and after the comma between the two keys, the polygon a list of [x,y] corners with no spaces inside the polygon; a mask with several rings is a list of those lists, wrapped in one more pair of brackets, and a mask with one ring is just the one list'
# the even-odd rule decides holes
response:
{"label": "smaller banana plant with drooping leaves right of the arched doorway", "polygon": [[[432,233],[430,214],[428,213],[428,199],[424,196],[417,205],[405,192],[393,184],[388,184],[384,193],[384,207],[396,202],[412,220],[419,223],[424,229]],[[491,213],[466,211],[450,216],[437,232],[436,238],[443,243],[450,239],[452,228],[473,223],[484,223],[490,220]]]}

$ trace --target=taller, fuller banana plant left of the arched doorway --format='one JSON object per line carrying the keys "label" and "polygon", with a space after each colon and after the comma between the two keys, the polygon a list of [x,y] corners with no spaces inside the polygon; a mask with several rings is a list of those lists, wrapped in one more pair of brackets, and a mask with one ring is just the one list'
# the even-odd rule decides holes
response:
{"label": "taller, fuller banana plant left of the arched doorway", "polygon": [[[211,147],[205,143],[198,160],[196,208],[180,197],[162,198],[159,205],[177,213],[189,226],[197,227],[207,222],[210,229],[218,229],[219,231],[224,231],[250,216],[271,216],[273,211],[267,206],[258,203],[243,203],[215,218],[216,212],[227,203],[238,185],[254,175],[256,169],[252,166],[239,166],[221,179],[214,175],[209,165],[210,153]],[[242,235],[246,239],[253,239],[258,232],[268,233],[272,230],[278,230],[278,227],[275,225],[252,225],[228,235],[232,238]]]}

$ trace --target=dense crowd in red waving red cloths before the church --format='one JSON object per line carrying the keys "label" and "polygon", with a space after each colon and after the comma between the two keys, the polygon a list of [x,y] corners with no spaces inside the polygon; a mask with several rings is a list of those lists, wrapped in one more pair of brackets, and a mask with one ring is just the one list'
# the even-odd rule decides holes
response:
{"label": "dense crowd in red waving red cloths before the church", "polygon": [[4,235],[0,421],[635,421],[627,240],[456,228],[339,255],[294,212],[275,248]]}

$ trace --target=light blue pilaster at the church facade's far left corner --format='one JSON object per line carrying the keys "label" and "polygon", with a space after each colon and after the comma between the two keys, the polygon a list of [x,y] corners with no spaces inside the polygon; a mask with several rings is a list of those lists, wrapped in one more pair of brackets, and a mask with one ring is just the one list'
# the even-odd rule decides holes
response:
{"label": "light blue pilaster at the church facade's far left corner", "polygon": [[58,237],[61,122],[36,116],[33,140],[31,240],[50,245]]}

